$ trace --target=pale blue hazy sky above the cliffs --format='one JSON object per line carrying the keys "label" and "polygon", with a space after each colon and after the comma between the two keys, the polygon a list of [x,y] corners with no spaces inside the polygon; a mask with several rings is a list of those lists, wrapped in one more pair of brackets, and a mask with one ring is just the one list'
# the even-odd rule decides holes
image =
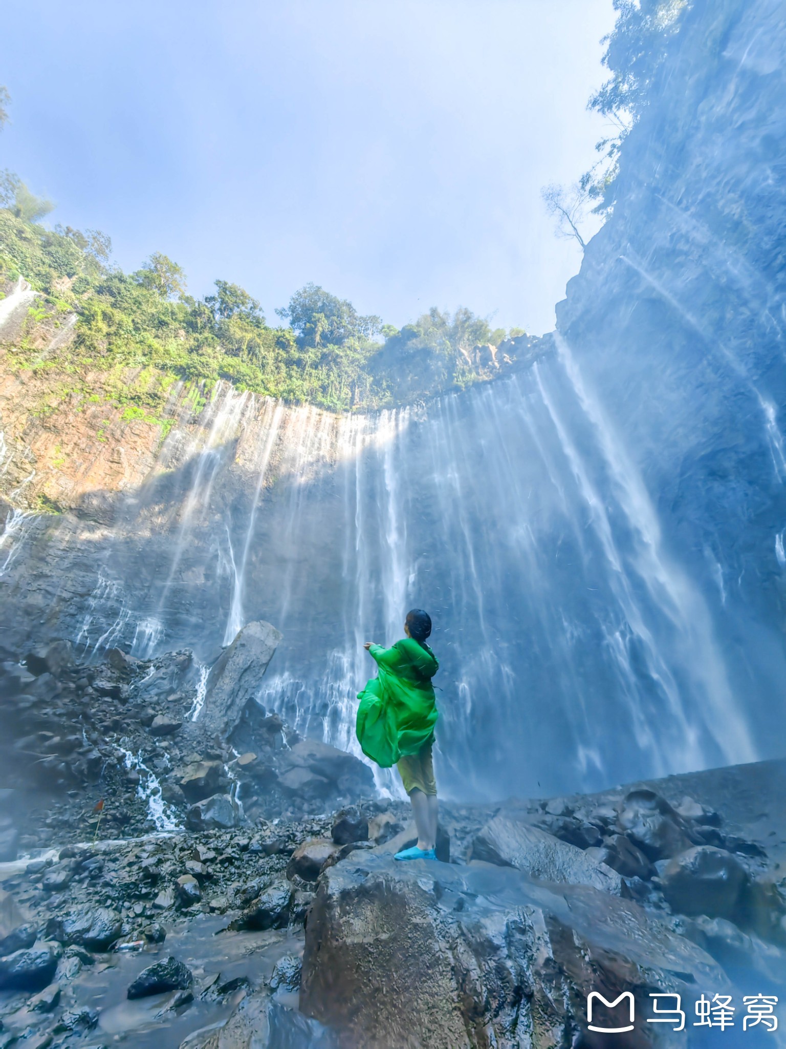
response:
{"label": "pale blue hazy sky above the cliffs", "polygon": [[[268,320],[308,281],[401,326],[432,305],[553,327],[577,272],[541,188],[607,131],[612,0],[26,0],[7,5],[0,168]],[[592,227],[590,223],[589,230]]]}

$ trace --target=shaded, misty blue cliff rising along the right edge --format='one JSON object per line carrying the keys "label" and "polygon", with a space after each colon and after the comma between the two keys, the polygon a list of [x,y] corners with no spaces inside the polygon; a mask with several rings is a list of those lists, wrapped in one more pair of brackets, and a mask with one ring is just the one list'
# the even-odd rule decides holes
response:
{"label": "shaded, misty blue cliff rising along the right edge", "polygon": [[785,59],[782,4],[692,5],[558,307],[768,753],[786,727]]}

